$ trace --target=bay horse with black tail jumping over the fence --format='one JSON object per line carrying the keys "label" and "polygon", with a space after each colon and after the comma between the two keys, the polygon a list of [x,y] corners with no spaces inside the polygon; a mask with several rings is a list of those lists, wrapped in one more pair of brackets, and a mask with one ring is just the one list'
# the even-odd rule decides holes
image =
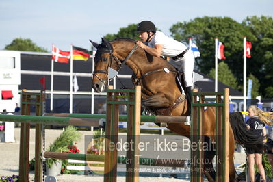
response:
{"label": "bay horse with black tail jumping over the fence", "polygon": [[[144,49],[135,44],[135,40],[131,39],[117,39],[108,42],[102,38],[101,44],[91,40],[90,42],[97,49],[92,79],[92,88],[96,92],[102,92],[105,85],[107,85],[109,67],[118,71],[126,64],[133,70],[133,83],[140,85],[142,88],[142,105],[144,107],[151,109],[155,114],[187,116],[187,99],[183,97],[181,89],[177,85],[177,71],[166,60],[146,53]],[[230,117],[233,118],[231,119],[233,125],[229,127],[229,180],[235,181],[237,175],[233,163],[235,139],[240,142],[241,138],[244,138],[243,142],[241,142],[243,146],[253,144],[255,141],[248,139],[248,137],[251,138],[251,134],[248,133],[244,125],[242,114],[231,114]],[[214,107],[207,107],[204,122],[205,136],[209,136],[213,140],[216,122],[216,110]],[[190,138],[190,126],[184,125],[183,122],[168,123],[167,128],[174,133]],[[236,135],[233,135],[233,131]],[[205,151],[205,158],[209,159],[209,163],[206,163],[204,166],[204,174],[209,181],[214,181],[215,179],[215,171],[212,164],[214,156],[215,151]]]}

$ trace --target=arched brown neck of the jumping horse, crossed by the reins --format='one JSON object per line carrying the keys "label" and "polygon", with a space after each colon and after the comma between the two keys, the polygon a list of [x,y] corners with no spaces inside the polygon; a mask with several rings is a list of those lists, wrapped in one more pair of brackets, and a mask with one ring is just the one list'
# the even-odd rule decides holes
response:
{"label": "arched brown neck of the jumping horse, crossed by the reins", "polygon": [[[118,59],[125,60],[125,57],[133,49],[134,45],[135,44],[133,44],[133,42],[113,44]],[[140,47],[135,49],[131,57],[129,57],[129,60],[127,60],[126,65],[133,70],[135,75],[138,76],[157,68],[168,67],[168,63],[165,60],[148,55],[148,53],[146,53],[144,49],[141,49]]]}

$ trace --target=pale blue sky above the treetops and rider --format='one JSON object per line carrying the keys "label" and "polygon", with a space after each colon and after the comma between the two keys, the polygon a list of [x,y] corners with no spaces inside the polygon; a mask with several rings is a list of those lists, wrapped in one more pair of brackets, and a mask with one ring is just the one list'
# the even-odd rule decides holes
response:
{"label": "pale blue sky above the treetops and rider", "polygon": [[273,17],[272,0],[1,0],[0,50],[14,38],[30,38],[51,51],[52,44],[70,51],[70,44],[90,50],[90,40],[143,20],[170,36],[177,22],[203,16],[227,16],[241,23],[247,16]]}

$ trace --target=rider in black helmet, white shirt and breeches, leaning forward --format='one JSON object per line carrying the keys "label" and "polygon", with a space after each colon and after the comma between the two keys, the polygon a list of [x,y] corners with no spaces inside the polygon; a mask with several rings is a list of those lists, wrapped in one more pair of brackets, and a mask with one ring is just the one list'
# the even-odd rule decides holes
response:
{"label": "rider in black helmet, white shirt and breeches, leaning forward", "polygon": [[[183,72],[187,95],[188,110],[192,100],[192,74],[194,71],[194,55],[187,49],[185,44],[166,36],[161,31],[155,30],[155,24],[151,21],[142,21],[138,24],[137,31],[141,41],[137,41],[139,47],[155,57],[171,57],[170,64]],[[187,123],[190,117],[187,117]]]}

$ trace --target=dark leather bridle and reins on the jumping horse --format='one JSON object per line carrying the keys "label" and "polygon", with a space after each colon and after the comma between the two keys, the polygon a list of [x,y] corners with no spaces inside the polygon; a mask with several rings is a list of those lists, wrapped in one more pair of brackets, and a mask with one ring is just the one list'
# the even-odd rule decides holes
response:
{"label": "dark leather bridle and reins on the jumping horse", "polygon": [[[112,48],[112,45],[109,49],[107,48],[101,48],[101,49],[98,49],[96,52],[97,53],[110,53],[110,56],[109,56],[109,62],[108,62],[108,66],[107,68],[112,68],[112,57],[114,58],[115,62],[116,62],[116,65],[118,66],[118,70],[117,71],[120,71],[120,69],[122,68],[122,66],[125,65],[125,63],[127,62],[127,60],[129,60],[129,57],[131,57],[131,55],[133,54],[133,52],[135,52],[135,49],[138,48],[138,45],[135,44],[135,46],[133,47],[133,49],[131,49],[131,51],[128,53],[128,55],[125,57],[125,59],[123,61],[120,61],[118,59],[118,57],[116,57],[116,55],[114,55],[114,49]],[[106,80],[103,80],[101,79],[98,75],[96,75],[96,73],[103,73],[103,74],[106,74],[107,77],[109,76],[108,75],[108,71],[107,70],[94,70],[93,71],[93,74],[95,77],[97,77],[99,79],[99,81],[101,81],[101,83],[105,83]]]}

